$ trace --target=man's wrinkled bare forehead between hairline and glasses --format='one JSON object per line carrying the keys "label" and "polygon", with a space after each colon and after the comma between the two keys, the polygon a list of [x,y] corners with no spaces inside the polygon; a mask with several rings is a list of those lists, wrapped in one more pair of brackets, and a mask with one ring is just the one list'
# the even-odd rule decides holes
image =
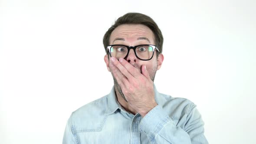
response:
{"label": "man's wrinkled bare forehead between hairline and glasses", "polygon": [[118,26],[111,33],[109,43],[114,44],[116,39],[121,39],[130,44],[146,41],[148,42],[147,44],[154,45],[154,33],[148,26],[142,24],[123,24]]}

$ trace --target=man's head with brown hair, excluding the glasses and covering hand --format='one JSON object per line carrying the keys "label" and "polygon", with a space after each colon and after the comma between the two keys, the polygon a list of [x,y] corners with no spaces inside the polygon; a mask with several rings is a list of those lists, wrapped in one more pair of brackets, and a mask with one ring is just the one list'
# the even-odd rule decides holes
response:
{"label": "man's head with brown hair, excluding the glasses and covering hand", "polygon": [[[127,13],[118,18],[115,24],[108,29],[103,38],[103,43],[107,54],[104,57],[108,71],[112,73],[115,88],[118,93],[125,99],[125,96],[115,79],[112,69],[109,66],[109,45],[124,45],[124,46],[138,46],[138,45],[156,45],[159,52],[154,49],[153,57],[150,60],[141,60],[135,54],[134,50],[130,50],[127,57],[127,62],[133,65],[141,72],[141,66],[145,65],[149,72],[151,80],[154,82],[156,71],[161,68],[164,56],[161,54],[163,45],[163,36],[156,23],[148,16],[141,13]],[[126,99],[125,99],[126,100]]]}

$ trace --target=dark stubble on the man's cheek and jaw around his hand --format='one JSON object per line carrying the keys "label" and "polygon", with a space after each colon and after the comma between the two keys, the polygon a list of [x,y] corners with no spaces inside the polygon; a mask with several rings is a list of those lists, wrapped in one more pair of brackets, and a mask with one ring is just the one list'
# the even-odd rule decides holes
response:
{"label": "dark stubble on the man's cheek and jaw around his hand", "polygon": [[[148,70],[148,69],[147,69]],[[154,77],[155,77],[155,74],[157,72],[157,66],[153,66],[153,68],[151,70],[148,70],[148,73],[149,73],[149,76],[150,76],[150,79],[154,82]],[[111,72],[112,74],[112,72]],[[117,90],[119,92],[119,94],[122,96],[122,98],[124,98],[124,100],[126,102],[128,102],[125,98],[125,95],[124,93],[122,92],[122,89],[121,89],[121,86],[118,84],[117,80],[115,79],[115,76],[112,74],[112,77],[113,77],[113,80],[114,80],[114,87],[115,87],[115,91]],[[117,96],[117,94],[116,94]]]}

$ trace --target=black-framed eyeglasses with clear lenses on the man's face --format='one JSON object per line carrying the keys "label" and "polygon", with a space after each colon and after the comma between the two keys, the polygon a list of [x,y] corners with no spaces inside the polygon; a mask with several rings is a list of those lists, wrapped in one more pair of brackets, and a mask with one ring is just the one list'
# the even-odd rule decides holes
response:
{"label": "black-framed eyeglasses with clear lenses on the man's face", "polygon": [[154,45],[138,45],[138,46],[125,46],[125,45],[110,45],[107,46],[107,50],[111,57],[116,59],[128,57],[130,49],[134,50],[135,56],[141,60],[150,60],[153,58],[154,50],[159,49]]}

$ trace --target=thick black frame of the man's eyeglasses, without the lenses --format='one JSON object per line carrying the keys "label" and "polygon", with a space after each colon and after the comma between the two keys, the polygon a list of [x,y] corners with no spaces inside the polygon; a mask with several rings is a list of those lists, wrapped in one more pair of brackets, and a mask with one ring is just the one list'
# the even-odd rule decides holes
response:
{"label": "thick black frame of the man's eyeglasses, without the lenses", "polygon": [[[107,46],[107,53],[109,52],[110,57],[112,57],[112,56],[111,56],[111,52],[110,52],[110,49],[112,48],[112,46],[125,46],[125,45],[109,45],[109,46]],[[151,58],[150,58],[150,59],[141,59],[141,58],[139,58],[139,57],[137,56],[136,51],[135,51],[135,49],[136,49],[138,46],[151,46],[151,47],[153,48],[153,54],[152,54]],[[133,49],[133,50],[134,50],[134,53],[135,53],[135,56],[136,56],[137,59],[145,60],[145,61],[146,61],[146,60],[151,60],[151,59],[153,58],[153,56],[154,56],[154,50],[155,50],[155,49],[157,49],[157,51],[159,52],[159,49],[158,49],[157,46],[155,46],[155,45],[138,45],[138,46],[125,46],[125,47],[128,49],[128,52],[127,52],[127,55],[125,56],[124,59],[127,59],[128,55],[129,55],[129,52],[130,52],[130,49]],[[160,52],[159,52],[159,53],[160,53]]]}

